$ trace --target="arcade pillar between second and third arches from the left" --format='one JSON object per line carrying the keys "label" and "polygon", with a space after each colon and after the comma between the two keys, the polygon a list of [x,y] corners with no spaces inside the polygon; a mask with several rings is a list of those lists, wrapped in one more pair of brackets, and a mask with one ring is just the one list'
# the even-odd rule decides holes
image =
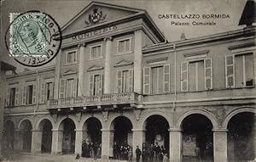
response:
{"label": "arcade pillar between second and third arches from the left", "polygon": [[32,130],[32,153],[41,153],[42,131]]}

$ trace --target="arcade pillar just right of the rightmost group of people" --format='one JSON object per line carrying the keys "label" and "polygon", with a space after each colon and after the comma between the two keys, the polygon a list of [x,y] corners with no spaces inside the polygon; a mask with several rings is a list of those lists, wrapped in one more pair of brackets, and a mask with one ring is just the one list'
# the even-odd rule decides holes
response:
{"label": "arcade pillar just right of the rightmost group of people", "polygon": [[169,129],[170,162],[182,161],[182,131],[178,128]]}

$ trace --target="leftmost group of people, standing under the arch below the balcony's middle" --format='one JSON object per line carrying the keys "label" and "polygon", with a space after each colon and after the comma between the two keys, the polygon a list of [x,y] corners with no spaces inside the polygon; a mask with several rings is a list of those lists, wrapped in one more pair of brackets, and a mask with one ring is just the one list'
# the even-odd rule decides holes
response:
{"label": "leftmost group of people, standing under the arch below the balcony's middle", "polygon": [[99,159],[102,155],[102,143],[93,143],[88,139],[82,142],[82,157]]}

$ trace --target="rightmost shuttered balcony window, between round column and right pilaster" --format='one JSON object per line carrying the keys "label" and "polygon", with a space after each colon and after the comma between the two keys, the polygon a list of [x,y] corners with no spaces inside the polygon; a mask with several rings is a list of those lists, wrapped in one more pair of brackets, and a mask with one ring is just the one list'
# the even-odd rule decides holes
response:
{"label": "rightmost shuttered balcony window, between round column and right pilaster", "polygon": [[116,92],[133,91],[133,69],[117,71],[117,88]]}

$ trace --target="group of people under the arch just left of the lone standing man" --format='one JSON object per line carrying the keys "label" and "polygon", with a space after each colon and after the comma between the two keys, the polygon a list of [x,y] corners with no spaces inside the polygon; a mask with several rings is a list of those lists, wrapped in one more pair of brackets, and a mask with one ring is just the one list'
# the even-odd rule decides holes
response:
{"label": "group of people under the arch just left of the lone standing man", "polygon": [[124,143],[118,144],[113,142],[113,159],[125,159],[131,160],[132,158],[132,148],[125,141]]}

